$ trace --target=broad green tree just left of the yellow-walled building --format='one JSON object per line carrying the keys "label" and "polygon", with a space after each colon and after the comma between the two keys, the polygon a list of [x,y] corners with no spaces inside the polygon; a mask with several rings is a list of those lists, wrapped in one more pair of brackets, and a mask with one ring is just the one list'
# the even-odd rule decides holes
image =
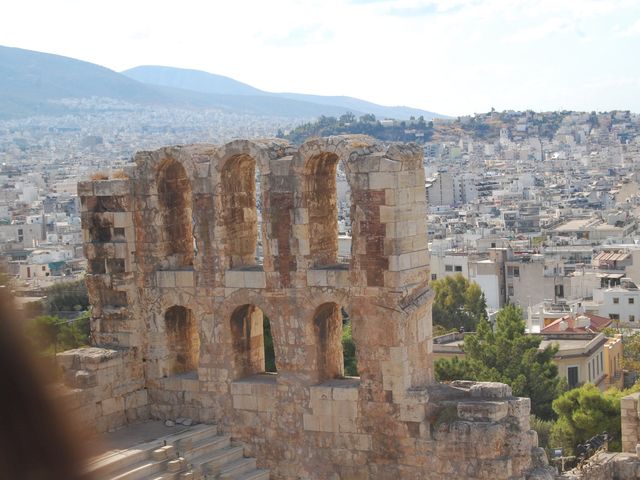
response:
{"label": "broad green tree just left of the yellow-walled building", "polygon": [[464,359],[436,362],[436,378],[506,383],[514,395],[529,397],[532,413],[547,420],[553,417],[551,402],[564,390],[564,382],[553,363],[557,347],[540,350],[541,341],[539,335],[525,333],[520,309],[507,305],[498,312],[495,332],[482,319],[477,332],[465,336]]}

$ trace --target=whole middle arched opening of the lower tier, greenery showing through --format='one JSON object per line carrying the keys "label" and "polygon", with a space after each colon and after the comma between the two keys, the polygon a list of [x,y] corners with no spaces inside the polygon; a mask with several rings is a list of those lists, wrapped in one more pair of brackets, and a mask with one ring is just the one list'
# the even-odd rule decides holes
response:
{"label": "whole middle arched opening of the lower tier, greenery showing through", "polygon": [[276,372],[271,324],[260,308],[238,307],[231,315],[231,336],[239,377]]}

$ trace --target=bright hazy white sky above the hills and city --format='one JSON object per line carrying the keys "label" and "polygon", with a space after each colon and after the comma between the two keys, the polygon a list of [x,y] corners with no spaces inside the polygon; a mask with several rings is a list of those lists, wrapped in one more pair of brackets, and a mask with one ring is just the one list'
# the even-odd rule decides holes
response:
{"label": "bright hazy white sky above the hills and city", "polygon": [[0,44],[449,115],[640,112],[640,0],[5,0]]}

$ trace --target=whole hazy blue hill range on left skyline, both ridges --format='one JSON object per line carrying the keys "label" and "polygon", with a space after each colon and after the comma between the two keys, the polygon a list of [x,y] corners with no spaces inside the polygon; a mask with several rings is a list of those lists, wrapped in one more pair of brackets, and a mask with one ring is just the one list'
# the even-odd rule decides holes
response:
{"label": "whole hazy blue hill range on left skyline, both ridges", "polygon": [[[357,115],[393,116],[391,112],[401,113],[397,109],[404,108],[382,107],[348,97],[263,92],[231,78],[198,70],[144,66],[122,74],[69,57],[0,46],[0,119],[68,113],[73,107],[61,102],[62,99],[89,97],[292,118],[340,116],[346,110]],[[385,109],[390,109],[389,113]],[[408,111],[425,118],[432,115]]]}

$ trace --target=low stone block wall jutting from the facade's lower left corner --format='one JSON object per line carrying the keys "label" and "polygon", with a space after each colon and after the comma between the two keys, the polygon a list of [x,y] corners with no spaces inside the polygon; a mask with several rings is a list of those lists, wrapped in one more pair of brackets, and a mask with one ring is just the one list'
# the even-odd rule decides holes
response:
{"label": "low stone block wall jutting from the facade's lower left corner", "polygon": [[57,355],[71,418],[106,432],[149,418],[142,364],[133,349],[78,348]]}

